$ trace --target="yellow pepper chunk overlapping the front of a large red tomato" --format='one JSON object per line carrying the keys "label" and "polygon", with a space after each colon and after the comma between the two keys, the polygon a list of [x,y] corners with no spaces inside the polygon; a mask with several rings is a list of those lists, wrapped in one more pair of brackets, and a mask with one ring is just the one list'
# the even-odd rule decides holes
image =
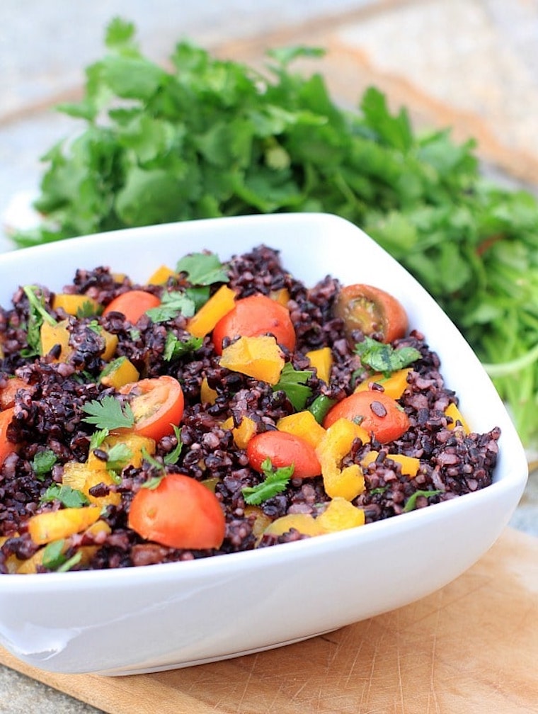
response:
{"label": "yellow pepper chunk overlapping the front of a large red tomato", "polygon": [[220,366],[276,384],[285,359],[274,337],[240,337],[223,349]]}

